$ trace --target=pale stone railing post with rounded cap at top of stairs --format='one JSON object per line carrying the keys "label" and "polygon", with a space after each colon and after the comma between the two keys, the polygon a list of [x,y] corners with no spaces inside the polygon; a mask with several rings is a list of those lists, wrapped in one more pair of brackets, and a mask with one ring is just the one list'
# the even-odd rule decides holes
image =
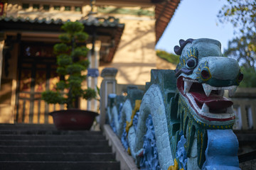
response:
{"label": "pale stone railing post with rounded cap at top of stairs", "polygon": [[107,96],[115,94],[117,91],[117,69],[105,68],[102,70],[101,77],[104,79],[100,85],[100,127],[102,128],[106,121]]}

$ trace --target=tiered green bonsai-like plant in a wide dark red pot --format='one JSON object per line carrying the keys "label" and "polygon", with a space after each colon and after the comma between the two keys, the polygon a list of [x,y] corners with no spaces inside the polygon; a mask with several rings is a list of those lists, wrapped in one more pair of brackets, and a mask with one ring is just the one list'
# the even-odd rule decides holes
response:
{"label": "tiered green bonsai-like plant in a wide dark red pot", "polygon": [[[65,104],[67,110],[54,111],[53,122],[59,130],[89,130],[97,113],[78,109],[80,97],[90,100],[96,97],[94,89],[82,89],[82,81],[86,75],[81,72],[89,66],[86,59],[87,47],[85,40],[87,33],[79,22],[67,22],[61,26],[65,31],[59,36],[60,43],[54,45],[53,52],[57,55],[60,81],[55,84],[54,91],[44,91],[42,98],[46,103]],[[79,117],[78,117],[79,116]]]}

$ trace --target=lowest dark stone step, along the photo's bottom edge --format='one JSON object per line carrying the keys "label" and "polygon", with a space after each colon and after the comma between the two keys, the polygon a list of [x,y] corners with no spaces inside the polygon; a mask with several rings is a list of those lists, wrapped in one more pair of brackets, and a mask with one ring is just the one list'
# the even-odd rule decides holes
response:
{"label": "lowest dark stone step, along the photo's bottom edge", "polygon": [[119,170],[119,162],[0,162],[1,170]]}

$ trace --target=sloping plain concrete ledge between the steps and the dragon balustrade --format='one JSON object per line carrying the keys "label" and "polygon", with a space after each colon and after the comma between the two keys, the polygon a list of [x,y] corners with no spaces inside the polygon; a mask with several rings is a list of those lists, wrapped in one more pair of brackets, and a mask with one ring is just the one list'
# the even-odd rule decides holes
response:
{"label": "sloping plain concrete ledge between the steps and the dragon balustrade", "polygon": [[113,130],[110,128],[110,125],[103,126],[103,135],[109,141],[109,145],[112,147],[112,152],[114,152],[117,161],[120,162],[121,170],[138,170],[134,159],[127,153],[124,149],[121,141],[114,134]]}

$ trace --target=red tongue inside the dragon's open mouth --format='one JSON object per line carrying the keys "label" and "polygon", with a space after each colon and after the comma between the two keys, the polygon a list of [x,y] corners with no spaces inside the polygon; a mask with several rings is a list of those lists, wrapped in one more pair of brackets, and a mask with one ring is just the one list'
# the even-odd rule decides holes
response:
{"label": "red tongue inside the dragon's open mouth", "polygon": [[223,108],[229,108],[233,105],[233,102],[228,100],[228,98],[218,96],[216,94],[210,94],[210,96],[206,96],[205,93],[201,92],[194,92],[191,91],[190,94],[195,98],[195,100],[203,105],[203,103],[206,103],[206,105],[211,110],[220,110]]}

